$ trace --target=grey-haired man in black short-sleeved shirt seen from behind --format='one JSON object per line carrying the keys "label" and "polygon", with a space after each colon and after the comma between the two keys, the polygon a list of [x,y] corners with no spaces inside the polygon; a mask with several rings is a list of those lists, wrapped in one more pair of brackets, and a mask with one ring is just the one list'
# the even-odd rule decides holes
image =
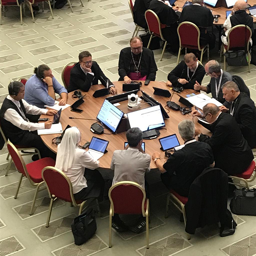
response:
{"label": "grey-haired man in black short-sleeved shirt seen from behind", "polygon": [[190,120],[179,123],[179,133],[185,142],[185,147],[175,151],[163,163],[160,153],[152,155],[159,171],[163,184],[170,190],[188,197],[189,189],[195,178],[207,167],[214,167],[214,158],[211,147],[207,143],[195,140],[195,125]]}

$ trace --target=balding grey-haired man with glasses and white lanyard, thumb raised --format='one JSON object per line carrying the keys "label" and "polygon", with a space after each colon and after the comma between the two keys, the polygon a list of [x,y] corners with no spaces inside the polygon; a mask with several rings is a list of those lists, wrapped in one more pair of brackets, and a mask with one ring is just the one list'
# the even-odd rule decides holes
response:
{"label": "balding grey-haired man with glasses and white lanyard, thumb raised", "polygon": [[206,75],[211,77],[210,83],[207,86],[201,86],[198,82],[195,82],[194,89],[196,91],[201,90],[206,93],[210,93],[213,98],[222,103],[225,107],[229,108],[230,103],[225,101],[221,86],[227,81],[232,81],[230,73],[220,68],[219,62],[216,60],[208,61],[204,66]]}

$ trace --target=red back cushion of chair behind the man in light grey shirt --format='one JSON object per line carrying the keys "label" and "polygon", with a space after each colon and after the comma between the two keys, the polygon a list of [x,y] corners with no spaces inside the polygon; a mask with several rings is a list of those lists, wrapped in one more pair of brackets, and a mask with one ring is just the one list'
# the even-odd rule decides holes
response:
{"label": "red back cushion of chair behind the man in light grey shirt", "polygon": [[118,185],[110,193],[117,214],[142,214],[143,192],[134,185]]}

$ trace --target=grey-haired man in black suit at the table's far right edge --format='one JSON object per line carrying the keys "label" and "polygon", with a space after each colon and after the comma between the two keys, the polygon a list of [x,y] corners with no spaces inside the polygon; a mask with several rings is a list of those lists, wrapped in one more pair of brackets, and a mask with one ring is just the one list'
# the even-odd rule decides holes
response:
{"label": "grey-haired man in black suit at the table's far right edge", "polygon": [[235,117],[244,138],[251,148],[256,146],[256,107],[252,99],[244,92],[240,92],[233,81],[224,83],[221,87],[223,98],[231,103],[228,109],[221,106],[222,112],[230,113]]}

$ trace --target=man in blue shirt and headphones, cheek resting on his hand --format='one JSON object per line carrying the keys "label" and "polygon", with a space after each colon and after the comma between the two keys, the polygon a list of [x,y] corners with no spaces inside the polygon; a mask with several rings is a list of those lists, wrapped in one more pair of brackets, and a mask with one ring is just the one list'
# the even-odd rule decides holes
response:
{"label": "man in blue shirt and headphones, cheek resting on his hand", "polygon": [[45,105],[53,106],[55,104],[55,93],[61,97],[60,106],[67,102],[67,90],[52,75],[51,69],[47,65],[39,65],[34,69],[35,75],[32,75],[26,82],[25,101],[39,108],[45,108]]}

